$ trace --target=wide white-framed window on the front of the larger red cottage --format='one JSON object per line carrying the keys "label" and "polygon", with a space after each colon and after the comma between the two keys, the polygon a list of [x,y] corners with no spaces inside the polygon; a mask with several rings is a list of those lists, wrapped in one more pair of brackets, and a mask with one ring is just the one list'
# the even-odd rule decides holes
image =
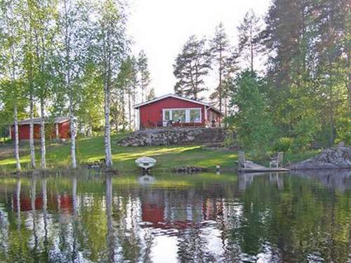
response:
{"label": "wide white-framed window on the front of the larger red cottage", "polygon": [[163,120],[174,123],[201,123],[201,108],[164,109]]}

